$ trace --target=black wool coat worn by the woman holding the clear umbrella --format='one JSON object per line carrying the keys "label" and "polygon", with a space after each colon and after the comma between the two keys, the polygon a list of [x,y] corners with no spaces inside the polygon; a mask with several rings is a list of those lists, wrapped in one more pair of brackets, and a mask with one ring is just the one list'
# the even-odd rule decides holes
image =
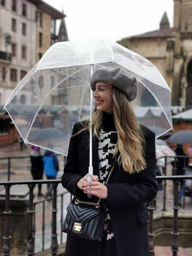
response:
{"label": "black wool coat worn by the woman holding the clear umbrella", "polygon": [[[80,123],[73,127],[73,134],[82,128]],[[115,165],[107,186],[108,198],[101,200],[109,209],[114,229],[117,256],[148,256],[147,221],[149,214],[146,203],[157,194],[155,180],[155,135],[147,127],[141,125],[145,146],[147,168],[139,173],[129,174],[122,165]],[[114,160],[115,161],[115,160]],[[89,166],[89,133],[82,132],[74,137],[68,149],[66,166],[62,176],[62,185],[71,194],[91,202],[77,182],[88,173]],[[93,174],[99,176],[98,139],[93,138]],[[67,236],[65,256],[103,256],[102,242],[89,241]]]}

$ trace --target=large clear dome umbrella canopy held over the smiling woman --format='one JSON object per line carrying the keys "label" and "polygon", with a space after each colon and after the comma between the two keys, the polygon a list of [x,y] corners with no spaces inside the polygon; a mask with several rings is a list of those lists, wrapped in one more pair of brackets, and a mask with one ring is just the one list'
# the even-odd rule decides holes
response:
{"label": "large clear dome umbrella canopy held over the smiling woman", "polygon": [[[61,134],[54,138],[52,150],[67,155],[74,123],[89,118],[95,105],[89,85],[91,74],[98,68],[119,66],[138,81],[138,94],[131,102],[133,108],[155,109],[146,112],[145,117],[138,117],[139,122],[147,127],[161,124],[164,132],[172,129],[170,89],[160,72],[147,59],[107,39],[59,42],[51,46],[20,81],[5,109],[14,123],[18,118],[27,122],[23,126],[15,123],[27,143],[49,148],[50,139],[38,140],[35,132],[59,129]],[[159,135],[156,132],[156,137]]]}

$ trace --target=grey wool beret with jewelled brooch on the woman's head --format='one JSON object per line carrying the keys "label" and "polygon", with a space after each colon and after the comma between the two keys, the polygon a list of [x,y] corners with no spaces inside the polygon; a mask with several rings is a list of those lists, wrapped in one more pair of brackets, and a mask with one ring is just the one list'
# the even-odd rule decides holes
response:
{"label": "grey wool beret with jewelled brooch on the woman's head", "polygon": [[137,94],[137,80],[123,68],[99,68],[91,76],[91,90],[95,91],[95,84],[99,81],[111,84],[121,90],[129,100],[133,101]]}

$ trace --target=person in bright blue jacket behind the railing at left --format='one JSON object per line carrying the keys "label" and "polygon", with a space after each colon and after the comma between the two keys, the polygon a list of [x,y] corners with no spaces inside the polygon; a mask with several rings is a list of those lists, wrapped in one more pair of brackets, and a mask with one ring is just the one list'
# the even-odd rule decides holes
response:
{"label": "person in bright blue jacket behind the railing at left", "polygon": [[[45,150],[43,155],[43,164],[45,175],[48,180],[55,180],[57,176],[57,172],[59,171],[59,162],[56,154],[51,150]],[[45,194],[45,198],[52,196],[53,186],[48,183],[47,184],[47,193]]]}

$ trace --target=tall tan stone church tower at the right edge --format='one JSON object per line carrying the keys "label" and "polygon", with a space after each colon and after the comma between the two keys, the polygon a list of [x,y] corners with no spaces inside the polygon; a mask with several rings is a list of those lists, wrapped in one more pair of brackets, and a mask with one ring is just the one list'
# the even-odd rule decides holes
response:
{"label": "tall tan stone church tower at the right edge", "polygon": [[192,108],[192,0],[174,0],[173,25],[177,28],[174,55],[180,58],[175,59],[174,87],[180,88],[184,105]]}

